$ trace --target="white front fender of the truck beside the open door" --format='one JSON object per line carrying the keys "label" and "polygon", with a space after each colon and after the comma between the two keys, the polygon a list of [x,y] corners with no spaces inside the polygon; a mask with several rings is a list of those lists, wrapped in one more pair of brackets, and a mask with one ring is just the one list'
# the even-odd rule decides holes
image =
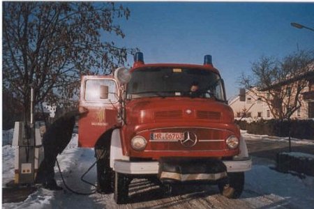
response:
{"label": "white front fender of the truck beside the open door", "polygon": [[110,146],[110,167],[114,167],[114,160],[130,161],[130,157],[122,152],[120,130],[115,129],[112,132],[111,146]]}

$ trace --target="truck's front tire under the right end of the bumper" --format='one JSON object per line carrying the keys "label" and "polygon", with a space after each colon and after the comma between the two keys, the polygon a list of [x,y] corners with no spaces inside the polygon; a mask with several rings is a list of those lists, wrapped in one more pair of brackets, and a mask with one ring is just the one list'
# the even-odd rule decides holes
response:
{"label": "truck's front tire under the right end of the bumper", "polygon": [[228,177],[218,181],[220,194],[230,199],[238,199],[244,189],[244,172],[228,173]]}

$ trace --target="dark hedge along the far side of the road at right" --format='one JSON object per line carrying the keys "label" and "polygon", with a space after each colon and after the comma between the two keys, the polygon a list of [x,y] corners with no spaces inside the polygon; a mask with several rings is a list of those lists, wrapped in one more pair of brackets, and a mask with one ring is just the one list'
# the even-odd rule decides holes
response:
{"label": "dark hedge along the far side of the road at right", "polygon": [[248,123],[246,121],[235,121],[241,130],[247,130],[249,134],[269,135],[276,137],[289,137],[289,126],[291,137],[297,139],[314,140],[314,121],[312,120],[292,120],[280,121],[260,120]]}

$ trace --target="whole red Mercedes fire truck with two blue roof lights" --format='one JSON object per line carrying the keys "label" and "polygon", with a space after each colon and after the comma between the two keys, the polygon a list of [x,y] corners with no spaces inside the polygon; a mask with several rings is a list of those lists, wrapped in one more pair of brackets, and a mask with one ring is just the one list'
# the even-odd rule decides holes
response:
{"label": "whole red Mercedes fire truck with two blue roof lights", "polygon": [[95,148],[98,191],[128,201],[133,178],[148,178],[168,193],[177,184],[217,183],[237,198],[251,169],[246,142],[227,105],[211,56],[203,65],[145,64],[82,77],[79,146]]}

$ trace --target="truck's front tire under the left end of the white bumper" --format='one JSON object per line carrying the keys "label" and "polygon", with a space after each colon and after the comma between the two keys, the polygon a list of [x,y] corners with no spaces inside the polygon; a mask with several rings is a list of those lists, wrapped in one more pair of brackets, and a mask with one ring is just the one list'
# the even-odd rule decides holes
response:
{"label": "truck's front tire under the left end of the white bumper", "polygon": [[115,172],[114,176],[114,201],[117,204],[125,204],[128,201],[128,185],[130,185],[130,178],[118,172]]}

